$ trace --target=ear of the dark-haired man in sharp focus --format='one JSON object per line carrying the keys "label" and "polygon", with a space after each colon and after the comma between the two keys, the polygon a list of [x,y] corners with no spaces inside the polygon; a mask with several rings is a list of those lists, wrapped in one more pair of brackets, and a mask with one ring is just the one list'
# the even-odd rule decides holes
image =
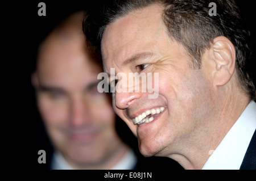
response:
{"label": "ear of the dark-haired man in sharp focus", "polygon": [[234,74],[236,65],[236,49],[225,36],[213,39],[210,47],[210,59],[213,60],[212,78],[214,85],[223,86],[229,82]]}

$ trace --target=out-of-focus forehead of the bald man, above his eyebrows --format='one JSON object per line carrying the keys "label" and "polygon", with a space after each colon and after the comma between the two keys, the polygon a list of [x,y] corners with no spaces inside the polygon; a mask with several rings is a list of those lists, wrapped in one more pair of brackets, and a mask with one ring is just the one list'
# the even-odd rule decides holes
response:
{"label": "out-of-focus forehead of the bald man, above his eyebrows", "polygon": [[[67,40],[60,40],[60,39]],[[47,79],[89,79],[102,71],[100,63],[86,49],[83,35],[59,37],[52,35],[38,57],[38,73]],[[77,78],[76,78],[77,77]]]}

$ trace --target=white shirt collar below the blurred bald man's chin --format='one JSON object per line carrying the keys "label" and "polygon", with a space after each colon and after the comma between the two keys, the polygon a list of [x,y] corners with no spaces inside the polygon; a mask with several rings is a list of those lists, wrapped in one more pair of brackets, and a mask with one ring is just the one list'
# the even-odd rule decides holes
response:
{"label": "white shirt collar below the blurred bald man's chin", "polygon": [[[137,157],[134,154],[133,150],[129,149],[126,151],[126,154],[123,155],[122,159],[112,167],[110,170],[130,170],[133,169],[137,163]],[[53,153],[53,158],[51,162],[52,170],[73,170],[69,166],[68,162],[65,160],[63,155],[57,151]]]}

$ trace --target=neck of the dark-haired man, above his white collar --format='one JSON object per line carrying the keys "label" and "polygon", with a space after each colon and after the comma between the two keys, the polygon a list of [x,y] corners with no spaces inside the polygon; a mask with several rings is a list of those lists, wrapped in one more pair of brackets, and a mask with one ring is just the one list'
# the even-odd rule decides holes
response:
{"label": "neck of the dark-haired man, above his white collar", "polygon": [[204,166],[210,154],[217,148],[250,102],[247,96],[242,94],[220,100],[222,102],[218,104],[218,112],[215,116],[209,117],[204,127],[191,134],[179,154],[169,156],[179,162],[184,169],[201,169]]}

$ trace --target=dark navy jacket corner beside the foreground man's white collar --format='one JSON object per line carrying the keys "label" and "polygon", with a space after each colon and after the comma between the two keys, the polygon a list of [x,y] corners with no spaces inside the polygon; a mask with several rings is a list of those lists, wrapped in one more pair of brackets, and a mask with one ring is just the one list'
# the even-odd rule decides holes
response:
{"label": "dark navy jacket corner beside the foreground man's white collar", "polygon": [[256,131],[246,150],[240,170],[256,170]]}

